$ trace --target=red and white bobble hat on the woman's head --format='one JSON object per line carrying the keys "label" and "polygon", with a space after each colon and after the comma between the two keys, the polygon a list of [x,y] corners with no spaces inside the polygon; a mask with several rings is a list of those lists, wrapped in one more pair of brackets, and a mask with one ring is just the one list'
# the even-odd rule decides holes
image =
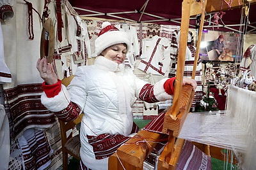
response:
{"label": "red and white bobble hat on the woman's head", "polygon": [[127,51],[130,48],[129,36],[126,32],[120,31],[114,25],[109,22],[102,23],[102,29],[99,32],[98,38],[95,39],[95,53],[94,57],[100,55],[100,53],[111,45],[119,43],[125,43],[127,45]]}

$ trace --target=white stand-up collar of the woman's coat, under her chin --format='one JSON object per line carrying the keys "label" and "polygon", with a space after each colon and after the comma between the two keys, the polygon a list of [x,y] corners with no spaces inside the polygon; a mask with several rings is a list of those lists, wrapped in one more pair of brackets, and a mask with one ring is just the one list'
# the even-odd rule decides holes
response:
{"label": "white stand-up collar of the woman's coat, under her chin", "polygon": [[94,65],[105,71],[113,71],[113,72],[123,71],[125,66],[124,62],[121,64],[117,64],[113,60],[109,60],[103,56],[98,56],[95,59]]}

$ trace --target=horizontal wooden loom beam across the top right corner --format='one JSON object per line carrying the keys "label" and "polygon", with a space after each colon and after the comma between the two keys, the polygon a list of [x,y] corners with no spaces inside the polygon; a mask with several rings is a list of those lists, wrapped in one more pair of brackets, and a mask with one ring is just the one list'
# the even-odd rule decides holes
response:
{"label": "horizontal wooden loom beam across the top right corner", "polygon": [[[228,1],[227,1],[228,2]],[[230,2],[229,6],[227,3],[225,3],[225,1],[223,0],[208,0],[206,7],[205,7],[205,11],[206,13],[212,13],[212,12],[217,12],[217,11],[225,11],[225,10],[231,10],[234,8],[238,8],[239,6],[243,6],[244,4],[255,4],[256,0],[233,0],[232,2]],[[193,3],[191,4],[191,11],[190,11],[190,15],[191,16],[195,16],[198,13],[202,13],[202,0],[200,2],[196,2],[193,1]]]}

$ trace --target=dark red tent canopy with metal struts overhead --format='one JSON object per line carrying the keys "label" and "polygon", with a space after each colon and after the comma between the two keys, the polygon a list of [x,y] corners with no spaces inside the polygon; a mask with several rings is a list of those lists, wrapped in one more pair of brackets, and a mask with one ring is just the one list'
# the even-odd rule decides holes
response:
{"label": "dark red tent canopy with metal struts overhead", "polygon": [[[242,2],[242,1],[241,1]],[[251,3],[249,7],[248,21],[241,21],[241,8],[233,9],[230,2],[223,0],[222,9],[225,15],[220,25],[213,24],[214,13],[207,13],[205,16],[205,27],[207,29],[217,29],[220,31],[239,31],[239,26],[246,27],[246,32],[256,32],[256,16],[253,11],[256,10],[256,4]],[[240,2],[239,2],[240,3]],[[107,19],[126,20],[130,22],[148,22],[155,24],[180,25],[181,21],[181,4],[182,1],[168,0],[144,0],[144,1],[81,1],[70,0],[81,17],[98,17]],[[214,8],[213,7],[208,7]],[[210,21],[210,22],[209,22]],[[195,28],[196,17],[191,17],[190,27]]]}

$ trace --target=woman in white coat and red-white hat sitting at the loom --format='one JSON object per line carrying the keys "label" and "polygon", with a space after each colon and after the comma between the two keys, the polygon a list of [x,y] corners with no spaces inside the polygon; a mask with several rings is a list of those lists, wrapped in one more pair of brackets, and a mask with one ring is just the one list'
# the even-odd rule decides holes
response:
{"label": "woman in white coat and red-white hat sitting at the loom", "polygon": [[[124,64],[127,50],[127,34],[104,23],[95,40],[95,64],[77,67],[67,88],[46,59],[36,65],[45,81],[41,101],[46,108],[66,122],[84,112],[80,155],[81,164],[90,169],[108,169],[108,157],[136,132],[131,111],[136,98],[148,103],[172,99],[175,78],[155,85],[140,80]],[[195,80],[184,78],[185,83],[196,88]]]}

